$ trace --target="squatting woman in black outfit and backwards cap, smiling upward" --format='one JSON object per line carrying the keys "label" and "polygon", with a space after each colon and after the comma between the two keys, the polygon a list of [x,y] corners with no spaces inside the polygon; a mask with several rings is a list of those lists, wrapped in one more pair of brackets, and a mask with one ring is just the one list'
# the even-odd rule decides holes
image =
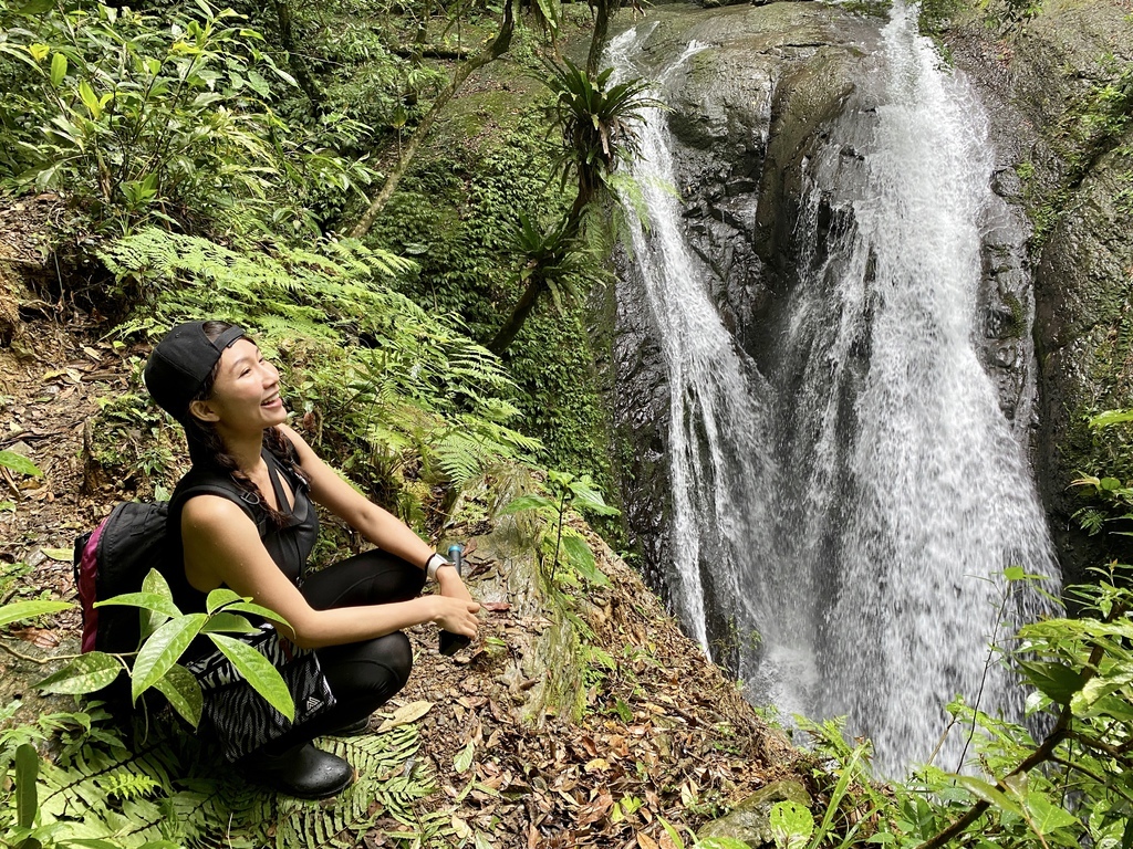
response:
{"label": "squatting woman in black outfit and backwards cap, smiling upward", "polygon": [[[412,651],[402,628],[431,621],[472,637],[479,604],[448,560],[284,424],[279,371],[239,327],[174,327],[146,363],[145,383],[185,426],[193,461],[170,501],[169,537],[184,554],[184,571],[167,575],[178,607],[204,611],[207,593],[227,586],[290,625],[245,638],[283,675],[295,723],[202,640],[205,651],[194,658],[190,649],[188,660],[205,692],[205,718],[255,780],[292,796],[333,796],[353,770],[312,739],[364,731],[404,686]],[[306,574],[318,534],[312,501],[380,549]],[[420,595],[426,577],[437,594]]]}

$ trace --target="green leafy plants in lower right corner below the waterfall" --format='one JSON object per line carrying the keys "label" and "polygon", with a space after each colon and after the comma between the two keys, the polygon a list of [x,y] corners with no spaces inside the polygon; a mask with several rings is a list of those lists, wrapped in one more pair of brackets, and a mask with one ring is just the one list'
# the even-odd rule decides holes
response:
{"label": "green leafy plants in lower right corner below the waterfall", "polygon": [[1028,726],[952,705],[949,732],[970,737],[974,774],[927,766],[904,783],[880,787],[869,772],[868,744],[847,743],[837,722],[811,724],[838,784],[818,827],[807,812],[785,816],[781,822],[793,825],[784,827],[776,844],[1133,844],[1130,577],[1126,567],[1099,571],[1097,584],[1070,590],[1081,617],[1020,631],[1011,655],[1031,692]]}

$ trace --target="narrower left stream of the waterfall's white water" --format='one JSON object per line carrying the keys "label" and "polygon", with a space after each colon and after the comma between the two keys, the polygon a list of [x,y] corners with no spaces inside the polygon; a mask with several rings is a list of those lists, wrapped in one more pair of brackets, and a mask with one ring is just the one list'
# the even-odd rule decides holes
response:
{"label": "narrower left stream of the waterfall's white water", "polygon": [[[645,31],[615,38],[607,59],[624,74]],[[704,45],[690,44],[659,86]],[[672,557],[666,584],[682,623],[710,652],[706,604],[741,648],[763,662],[753,676],[786,711],[815,680],[816,593],[810,573],[778,567],[777,472],[769,460],[768,387],[721,323],[707,269],[681,229],[680,200],[664,115],[649,110],[636,170],[649,230],[633,220],[634,274],[658,328],[670,387],[668,455]],[[751,576],[758,575],[757,581]]]}

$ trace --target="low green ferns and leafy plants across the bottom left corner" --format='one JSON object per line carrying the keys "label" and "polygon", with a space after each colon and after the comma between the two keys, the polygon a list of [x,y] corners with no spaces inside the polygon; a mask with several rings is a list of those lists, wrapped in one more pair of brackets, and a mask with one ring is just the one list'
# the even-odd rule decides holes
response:
{"label": "low green ferns and leafy plants across the bottom left corner", "polygon": [[[0,711],[0,718],[10,718],[10,711]],[[383,815],[398,820],[410,840],[450,827],[415,811],[435,788],[416,763],[419,736],[412,724],[332,743],[359,774],[327,807],[256,789],[219,753],[167,721],[123,730],[109,720],[94,704],[0,732],[0,770],[15,779],[15,788],[3,791],[11,806],[0,808],[0,844],[315,849],[356,846]],[[51,760],[35,749],[49,737],[61,743]]]}

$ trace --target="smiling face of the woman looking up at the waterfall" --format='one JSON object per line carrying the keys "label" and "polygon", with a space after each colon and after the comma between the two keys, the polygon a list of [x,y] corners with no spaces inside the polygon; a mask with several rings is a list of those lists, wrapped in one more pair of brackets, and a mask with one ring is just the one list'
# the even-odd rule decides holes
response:
{"label": "smiling face of the woman looking up at the waterfall", "polygon": [[280,372],[250,340],[224,350],[212,395],[194,401],[193,414],[232,431],[261,431],[287,420],[280,397]]}

